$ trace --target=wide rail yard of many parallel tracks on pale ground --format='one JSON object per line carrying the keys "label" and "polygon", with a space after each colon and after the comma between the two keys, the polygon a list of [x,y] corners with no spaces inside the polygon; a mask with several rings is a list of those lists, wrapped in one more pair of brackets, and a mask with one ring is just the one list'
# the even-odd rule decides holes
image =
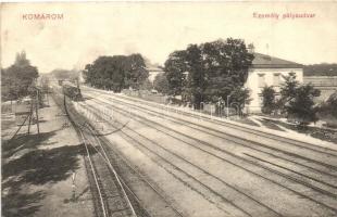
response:
{"label": "wide rail yard of many parallel tracks on pale ground", "polygon": [[337,148],[82,88],[54,94],[98,216],[336,216]]}

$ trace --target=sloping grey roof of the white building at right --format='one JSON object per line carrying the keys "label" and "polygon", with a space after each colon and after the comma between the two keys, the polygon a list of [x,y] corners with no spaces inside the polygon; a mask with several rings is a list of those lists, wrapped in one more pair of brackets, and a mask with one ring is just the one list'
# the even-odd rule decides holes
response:
{"label": "sloping grey roof of the white building at right", "polygon": [[252,61],[253,68],[302,68],[303,65],[291,61],[265,55],[262,53],[254,53]]}

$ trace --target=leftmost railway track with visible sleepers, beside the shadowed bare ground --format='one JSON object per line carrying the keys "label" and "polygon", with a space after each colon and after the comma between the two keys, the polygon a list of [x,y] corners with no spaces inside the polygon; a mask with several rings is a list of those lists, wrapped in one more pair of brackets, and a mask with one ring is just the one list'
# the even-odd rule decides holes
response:
{"label": "leftmost railway track with visible sleepers, beside the shadowed bare ground", "polygon": [[[96,142],[95,135],[90,129],[79,127],[78,116],[68,110],[67,103],[60,102],[61,99],[53,95],[59,106],[63,107],[74,129],[79,135],[84,144],[84,159],[87,168],[90,190],[93,197],[95,212],[97,216],[127,216],[135,217],[136,212],[130,203],[125,189],[112,165],[104,158],[101,146]],[[89,133],[88,133],[89,132]],[[138,215],[143,216],[143,215]]]}

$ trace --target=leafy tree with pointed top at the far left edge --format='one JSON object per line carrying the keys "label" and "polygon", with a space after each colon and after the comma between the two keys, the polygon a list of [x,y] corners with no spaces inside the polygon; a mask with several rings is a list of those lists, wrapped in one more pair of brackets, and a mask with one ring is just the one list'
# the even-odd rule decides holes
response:
{"label": "leafy tree with pointed top at the far left edge", "polygon": [[38,69],[30,65],[26,53],[16,54],[13,65],[1,71],[1,95],[3,100],[17,100],[29,94],[28,87],[38,77]]}

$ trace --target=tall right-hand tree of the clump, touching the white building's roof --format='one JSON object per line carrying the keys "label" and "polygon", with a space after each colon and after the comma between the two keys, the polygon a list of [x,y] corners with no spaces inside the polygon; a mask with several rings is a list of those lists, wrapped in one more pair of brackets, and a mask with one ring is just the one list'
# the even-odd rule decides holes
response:
{"label": "tall right-hand tree of the clump, touching the white building's roof", "polygon": [[238,87],[244,87],[253,55],[248,52],[242,40],[220,39],[201,47],[209,81],[205,94],[210,95],[209,99],[214,99],[214,95],[226,99]]}

